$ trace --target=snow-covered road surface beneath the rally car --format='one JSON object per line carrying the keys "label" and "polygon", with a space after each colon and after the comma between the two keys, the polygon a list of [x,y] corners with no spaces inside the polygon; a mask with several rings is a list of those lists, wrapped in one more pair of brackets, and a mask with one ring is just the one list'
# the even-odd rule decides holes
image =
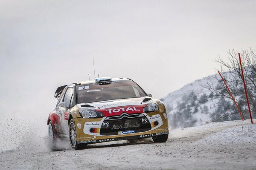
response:
{"label": "snow-covered road surface beneath the rally car", "polygon": [[255,170],[255,160],[256,125],[246,120],[171,130],[165,143],[149,139],[92,144],[85,150],[4,151],[0,169]]}

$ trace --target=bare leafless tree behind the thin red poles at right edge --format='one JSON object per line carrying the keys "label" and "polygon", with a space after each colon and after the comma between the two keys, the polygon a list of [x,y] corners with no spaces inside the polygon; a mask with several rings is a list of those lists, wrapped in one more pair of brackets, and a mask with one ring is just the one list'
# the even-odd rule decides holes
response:
{"label": "bare leafless tree behind the thin red poles at right edge", "polygon": [[[244,95],[244,86],[241,75],[241,68],[239,63],[238,51],[232,50],[227,52],[228,62],[225,62],[221,57],[215,59],[221,66],[222,75],[227,82],[230,91],[232,92],[234,98],[238,102],[239,108],[245,118],[249,118],[247,114],[247,104]],[[244,67],[244,79],[247,85],[247,93],[250,100],[250,105],[252,107],[252,113],[256,114],[256,51],[250,49],[241,51],[241,61]],[[231,97],[227,91],[226,86],[222,82],[218,74],[212,76],[217,79],[219,84],[214,85],[212,82],[207,81],[205,88],[209,89],[215,96],[220,96],[224,99],[230,99]],[[237,111],[231,108],[229,111],[222,113],[222,116],[232,116],[233,114],[238,114]],[[218,113],[220,114],[220,113]]]}

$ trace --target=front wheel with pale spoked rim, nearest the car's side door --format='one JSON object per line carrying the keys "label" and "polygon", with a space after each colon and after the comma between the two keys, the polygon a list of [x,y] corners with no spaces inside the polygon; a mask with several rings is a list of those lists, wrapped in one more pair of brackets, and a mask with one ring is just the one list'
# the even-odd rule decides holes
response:
{"label": "front wheel with pale spoked rim, nearest the car's side door", "polygon": [[70,145],[75,150],[81,150],[86,148],[86,144],[78,144],[76,141],[76,126],[73,119],[70,120],[69,124],[69,139]]}

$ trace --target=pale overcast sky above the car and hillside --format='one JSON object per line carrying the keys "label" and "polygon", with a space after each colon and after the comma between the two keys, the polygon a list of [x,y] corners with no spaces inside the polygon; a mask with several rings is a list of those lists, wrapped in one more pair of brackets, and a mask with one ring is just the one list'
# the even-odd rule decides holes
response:
{"label": "pale overcast sky above the car and hillside", "polygon": [[160,99],[215,74],[212,60],[229,49],[256,49],[255,7],[255,0],[1,0],[2,112],[48,114],[58,86],[93,77],[92,57],[100,77],[134,79]]}

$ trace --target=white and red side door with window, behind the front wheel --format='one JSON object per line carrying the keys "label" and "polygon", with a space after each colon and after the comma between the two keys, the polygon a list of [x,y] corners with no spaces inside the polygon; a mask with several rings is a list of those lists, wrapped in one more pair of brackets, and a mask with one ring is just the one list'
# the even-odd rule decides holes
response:
{"label": "white and red side door with window, behind the front wheel", "polygon": [[61,107],[61,128],[63,134],[68,134],[68,114],[70,112],[70,108],[73,105],[73,86],[67,88],[62,102],[66,103],[67,110],[65,111],[65,108]]}

